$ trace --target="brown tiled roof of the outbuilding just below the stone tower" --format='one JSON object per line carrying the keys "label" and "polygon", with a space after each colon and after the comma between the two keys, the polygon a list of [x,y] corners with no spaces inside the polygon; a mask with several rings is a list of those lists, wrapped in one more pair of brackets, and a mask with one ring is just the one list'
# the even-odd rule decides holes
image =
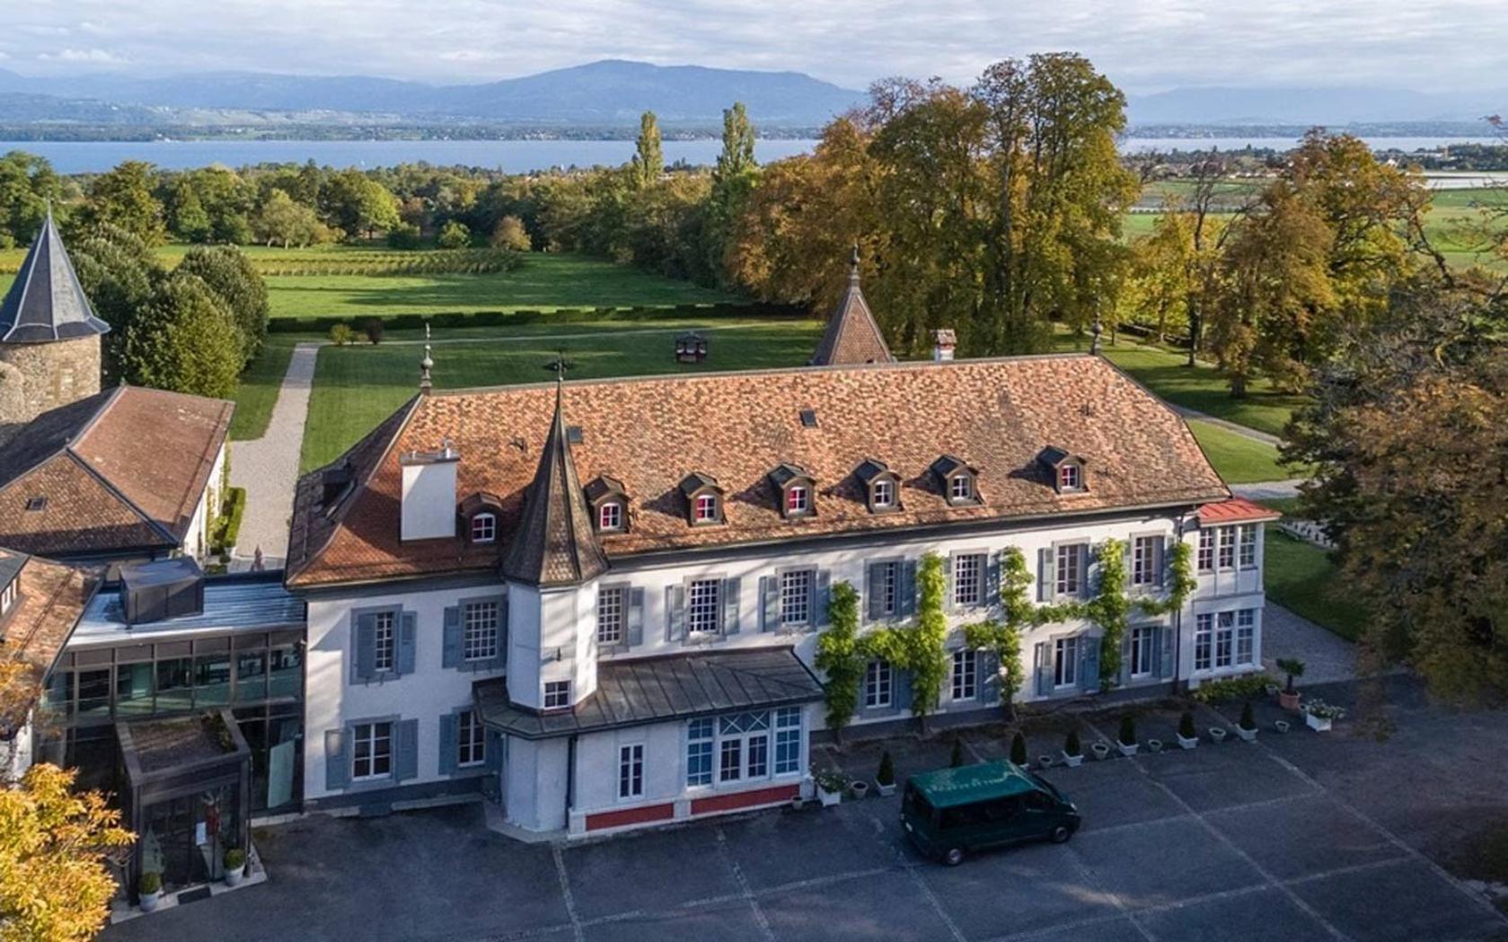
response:
{"label": "brown tiled roof of the outbuilding just below the stone tower", "polygon": [[[38,416],[0,451],[0,543],[75,555],[175,547],[234,402],[119,386]],[[33,499],[39,509],[27,509]]]}

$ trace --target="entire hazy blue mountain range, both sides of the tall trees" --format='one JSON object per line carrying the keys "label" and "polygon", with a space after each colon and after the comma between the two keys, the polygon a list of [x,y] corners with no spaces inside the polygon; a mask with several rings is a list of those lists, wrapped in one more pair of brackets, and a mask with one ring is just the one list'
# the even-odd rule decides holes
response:
{"label": "entire hazy blue mountain range, both sides of the tall trees", "polygon": [[[766,131],[817,128],[864,93],[801,72],[657,66],[602,60],[481,84],[394,78],[202,72],[164,78],[122,74],[24,77],[0,69],[8,127],[205,127],[267,124],[511,125],[627,128],[653,110],[667,128],[715,128],[722,109],[748,106]],[[1508,112],[1508,90],[1422,93],[1377,87],[1182,87],[1129,96],[1133,128],[1333,127],[1380,122],[1475,122]]]}

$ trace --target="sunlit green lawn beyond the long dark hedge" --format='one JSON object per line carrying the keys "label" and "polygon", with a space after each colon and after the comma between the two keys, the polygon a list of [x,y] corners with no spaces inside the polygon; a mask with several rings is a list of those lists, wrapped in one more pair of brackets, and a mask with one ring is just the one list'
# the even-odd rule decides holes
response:
{"label": "sunlit green lawn beyond the long dark hedge", "polygon": [[576,255],[531,253],[514,271],[427,276],[270,276],[273,317],[394,317],[556,307],[670,307],[739,298]]}

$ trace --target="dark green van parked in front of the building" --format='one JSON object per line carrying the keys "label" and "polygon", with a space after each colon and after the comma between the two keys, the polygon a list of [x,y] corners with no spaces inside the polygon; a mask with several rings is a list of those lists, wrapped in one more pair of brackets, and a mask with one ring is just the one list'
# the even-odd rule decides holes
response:
{"label": "dark green van parked in front of the building", "polygon": [[921,853],[956,867],[967,852],[983,847],[1062,844],[1081,818],[1051,782],[1000,760],[912,775],[900,823]]}

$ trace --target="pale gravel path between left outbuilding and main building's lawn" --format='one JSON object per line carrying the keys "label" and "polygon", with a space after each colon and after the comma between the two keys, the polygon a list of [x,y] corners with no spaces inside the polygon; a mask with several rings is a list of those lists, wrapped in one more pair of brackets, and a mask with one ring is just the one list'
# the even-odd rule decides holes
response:
{"label": "pale gravel path between left outbuilding and main building's lawn", "polygon": [[309,384],[321,344],[299,344],[288,360],[277,405],[267,424],[267,434],[237,442],[231,461],[231,485],[246,488],[246,515],[235,541],[232,570],[250,567],[256,550],[262,564],[277,568],[288,552],[288,517],[293,490],[299,481],[299,451],[303,446],[303,421],[309,414]]}

